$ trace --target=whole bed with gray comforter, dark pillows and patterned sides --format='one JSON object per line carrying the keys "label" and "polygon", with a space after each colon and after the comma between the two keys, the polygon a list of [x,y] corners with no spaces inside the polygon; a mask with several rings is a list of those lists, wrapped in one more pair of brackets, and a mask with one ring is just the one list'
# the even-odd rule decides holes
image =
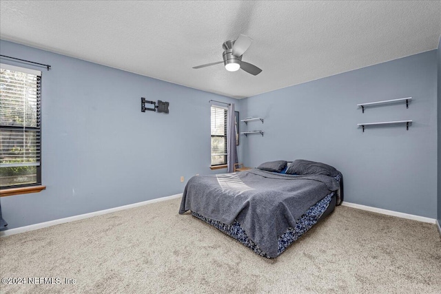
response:
{"label": "whole bed with gray comforter, dark pillows and patterned sides", "polygon": [[276,258],[342,200],[342,174],[334,167],[277,160],[248,171],[194,176],[179,213],[191,211],[258,255]]}

